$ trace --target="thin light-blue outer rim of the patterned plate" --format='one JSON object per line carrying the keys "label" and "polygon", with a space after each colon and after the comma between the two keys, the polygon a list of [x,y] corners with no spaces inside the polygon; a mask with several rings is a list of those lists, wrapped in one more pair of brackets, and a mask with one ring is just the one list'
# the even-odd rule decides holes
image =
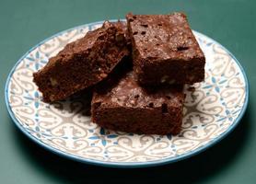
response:
{"label": "thin light-blue outer rim of the patterned plate", "polygon": [[[111,22],[115,22],[117,21],[116,19],[111,19],[110,20]],[[125,21],[125,20],[124,20]],[[9,101],[8,101],[8,86],[9,86],[9,82],[10,82],[10,78],[11,76],[13,75],[13,73],[15,72],[16,68],[17,68],[17,65],[18,63],[20,63],[28,54],[29,52],[32,52],[34,49],[38,48],[39,46],[41,46],[41,44],[43,44],[44,42],[48,41],[48,40],[51,40],[52,38],[60,35],[60,34],[63,34],[64,32],[67,32],[67,31],[70,31],[70,30],[73,30],[73,29],[79,29],[79,28],[84,28],[84,27],[90,27],[90,26],[94,26],[94,25],[97,25],[97,24],[102,24],[104,21],[97,21],[97,22],[92,22],[92,23],[88,23],[88,24],[84,24],[84,25],[80,25],[80,26],[76,26],[74,28],[71,28],[71,29],[65,29],[63,31],[60,31],[56,34],[53,34],[51,37],[45,39],[45,40],[42,40],[40,43],[36,44],[34,47],[32,47],[31,49],[29,49],[28,52],[26,52],[18,61],[17,63],[13,66],[13,68],[11,69],[9,75],[7,76],[7,79],[6,79],[6,86],[5,86],[5,101],[6,101],[6,109],[12,119],[12,121],[15,122],[17,128],[23,132],[24,134],[26,134],[30,140],[32,140],[34,143],[36,144],[40,144],[41,147],[43,147],[44,149],[46,150],[49,150],[51,151],[52,153],[56,154],[56,155],[61,155],[65,158],[69,158],[69,159],[72,159],[74,161],[78,161],[80,163],[85,163],[85,164],[90,164],[90,165],[96,165],[96,166],[101,166],[101,167],[157,167],[157,166],[160,166],[160,165],[166,165],[166,164],[170,164],[170,163],[173,163],[173,162],[178,162],[180,160],[183,160],[183,159],[186,159],[186,158],[189,158],[191,157],[192,155],[198,155],[200,154],[201,152],[204,152],[204,150],[206,150],[207,148],[217,144],[219,141],[221,141],[223,138],[225,138],[227,136],[227,134],[229,134],[230,132],[232,132],[236,126],[239,124],[239,121],[242,119],[247,107],[248,107],[248,101],[249,101],[249,82],[248,82],[248,78],[247,78],[247,75],[243,69],[243,67],[241,66],[241,64],[239,63],[239,61],[237,60],[237,58],[231,53],[229,52],[223,45],[221,45],[219,42],[217,42],[216,40],[213,40],[211,39],[210,37],[200,33],[200,32],[197,32],[195,30],[193,30],[193,32],[195,32],[196,34],[198,35],[201,35],[201,36],[204,36],[205,38],[209,39],[209,40],[212,40],[214,43],[220,45],[233,59],[234,61],[239,65],[239,69],[241,70],[242,72],[242,75],[244,77],[244,80],[245,80],[245,101],[244,101],[244,104],[243,104],[243,107],[239,113],[239,116],[238,118],[231,124],[231,126],[229,126],[229,128],[227,129],[227,131],[221,133],[218,137],[216,137],[215,139],[213,139],[212,141],[210,141],[209,143],[207,144],[204,144],[203,146],[195,149],[195,150],[192,150],[188,153],[185,153],[185,154],[182,154],[182,155],[177,155],[177,156],[174,156],[174,157],[170,157],[170,158],[165,158],[165,159],[162,159],[162,160],[157,160],[157,161],[146,161],[146,162],[136,162],[136,163],[123,163],[123,162],[107,162],[107,161],[99,161],[99,160],[94,160],[94,159],[89,159],[89,158],[84,158],[84,157],[81,157],[81,156],[77,156],[77,155],[70,155],[64,151],[61,151],[61,150],[58,150],[54,147],[52,147],[51,145],[49,144],[45,144],[43,142],[41,142],[41,140],[39,140],[38,138],[34,137],[33,135],[31,135],[29,132],[27,132],[25,130],[25,128],[17,121],[17,118],[15,116],[15,113],[12,111],[11,107],[10,107],[10,104],[9,104]]]}

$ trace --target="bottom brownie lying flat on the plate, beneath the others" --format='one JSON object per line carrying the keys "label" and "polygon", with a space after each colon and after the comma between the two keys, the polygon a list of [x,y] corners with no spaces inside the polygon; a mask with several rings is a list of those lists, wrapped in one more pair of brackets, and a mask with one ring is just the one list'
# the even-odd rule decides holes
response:
{"label": "bottom brownie lying flat on the plate, beneath the others", "polygon": [[91,102],[92,121],[99,126],[145,134],[180,132],[183,86],[145,88],[139,86],[133,71],[104,85],[94,91]]}

